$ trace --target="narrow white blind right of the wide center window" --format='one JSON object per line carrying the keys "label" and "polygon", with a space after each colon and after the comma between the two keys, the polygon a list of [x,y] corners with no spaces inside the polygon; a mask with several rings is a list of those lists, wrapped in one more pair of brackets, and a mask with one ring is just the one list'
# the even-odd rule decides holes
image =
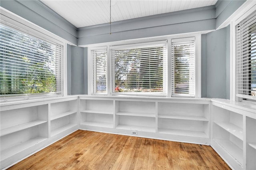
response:
{"label": "narrow white blind right of the wide center window", "polygon": [[195,96],[195,38],[172,39],[172,96]]}

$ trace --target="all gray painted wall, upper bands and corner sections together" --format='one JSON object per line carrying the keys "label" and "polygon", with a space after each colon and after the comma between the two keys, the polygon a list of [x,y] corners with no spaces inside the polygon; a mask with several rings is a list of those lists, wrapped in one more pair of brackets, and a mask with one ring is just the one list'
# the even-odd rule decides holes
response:
{"label": "all gray painted wall, upper bands and corner sections together", "polygon": [[[218,28],[245,0],[109,24],[76,28],[40,1],[1,0],[0,6],[76,45],[164,36]],[[229,99],[230,28],[202,35],[202,97]],[[87,94],[87,48],[67,47],[68,94]]]}

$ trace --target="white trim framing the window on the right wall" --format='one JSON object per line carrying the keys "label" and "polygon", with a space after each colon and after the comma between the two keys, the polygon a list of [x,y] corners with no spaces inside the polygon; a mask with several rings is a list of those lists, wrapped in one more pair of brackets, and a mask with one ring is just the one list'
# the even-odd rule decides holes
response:
{"label": "white trim framing the window on the right wall", "polygon": [[243,101],[236,97],[236,25],[256,10],[256,1],[246,1],[234,12],[230,20],[230,100]]}

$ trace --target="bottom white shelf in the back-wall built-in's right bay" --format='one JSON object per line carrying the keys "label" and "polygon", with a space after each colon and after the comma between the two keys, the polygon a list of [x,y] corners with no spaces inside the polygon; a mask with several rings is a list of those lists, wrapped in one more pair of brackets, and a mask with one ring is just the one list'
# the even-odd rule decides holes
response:
{"label": "bottom white shelf in the back-wall built-in's right bay", "polygon": [[183,135],[183,136],[196,136],[202,138],[208,138],[205,132],[191,131],[191,130],[177,130],[177,129],[169,129],[169,128],[158,128],[159,133],[166,134],[175,134],[175,135]]}

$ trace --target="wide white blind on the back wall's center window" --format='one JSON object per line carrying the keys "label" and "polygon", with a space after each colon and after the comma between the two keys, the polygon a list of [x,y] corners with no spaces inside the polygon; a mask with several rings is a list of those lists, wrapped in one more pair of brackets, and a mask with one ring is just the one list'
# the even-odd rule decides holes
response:
{"label": "wide white blind on the back wall's center window", "polygon": [[165,93],[166,41],[153,45],[113,47],[112,76],[116,93]]}

